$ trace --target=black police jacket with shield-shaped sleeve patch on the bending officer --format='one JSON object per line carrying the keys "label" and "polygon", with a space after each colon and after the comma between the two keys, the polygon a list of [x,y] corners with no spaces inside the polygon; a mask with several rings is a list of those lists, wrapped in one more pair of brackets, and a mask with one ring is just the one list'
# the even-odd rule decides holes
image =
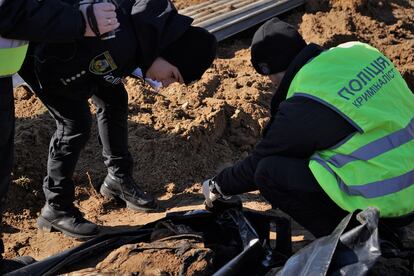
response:
{"label": "black police jacket with shield-shaped sleeve patch on the bending officer", "polygon": [[[78,6],[77,0],[65,2]],[[115,38],[38,43],[30,49],[33,60],[24,64],[23,78],[35,90],[41,87],[89,97],[89,93],[82,91],[93,91],[99,85],[118,85],[138,66],[145,71],[192,22],[191,18],[179,15],[168,0],[113,2],[120,22]],[[33,67],[36,75],[30,74]]]}

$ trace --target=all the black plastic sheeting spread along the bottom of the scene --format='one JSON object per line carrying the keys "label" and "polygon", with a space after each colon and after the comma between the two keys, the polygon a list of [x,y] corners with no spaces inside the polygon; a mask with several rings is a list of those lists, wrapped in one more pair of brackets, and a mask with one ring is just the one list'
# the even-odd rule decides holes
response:
{"label": "all the black plastic sheeting spread along the bottom of the scene", "polygon": [[[125,244],[151,241],[160,223],[184,225],[200,233],[205,247],[215,254],[215,276],[359,276],[366,275],[380,256],[409,260],[412,270],[414,249],[404,248],[392,232],[386,240],[380,234],[380,239],[378,218],[375,208],[349,214],[331,235],[313,241],[291,256],[291,226],[287,218],[242,210],[241,204],[215,212],[169,213],[161,220],[97,237],[8,275],[56,275],[86,268],[85,262],[96,261],[102,253],[109,254]],[[277,233],[274,248],[270,246],[274,244],[270,241],[271,230]]]}

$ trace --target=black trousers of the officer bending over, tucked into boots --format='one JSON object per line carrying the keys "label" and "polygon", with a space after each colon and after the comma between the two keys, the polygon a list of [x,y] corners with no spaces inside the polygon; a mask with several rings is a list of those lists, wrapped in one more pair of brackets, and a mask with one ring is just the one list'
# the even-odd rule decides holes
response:
{"label": "black trousers of the officer bending over, tucked into boots", "polygon": [[118,177],[132,173],[133,161],[128,151],[128,95],[122,84],[94,91],[44,89],[37,95],[56,121],[43,184],[47,204],[57,210],[73,204],[72,175],[91,132],[89,96],[97,108],[99,141],[108,173]]}

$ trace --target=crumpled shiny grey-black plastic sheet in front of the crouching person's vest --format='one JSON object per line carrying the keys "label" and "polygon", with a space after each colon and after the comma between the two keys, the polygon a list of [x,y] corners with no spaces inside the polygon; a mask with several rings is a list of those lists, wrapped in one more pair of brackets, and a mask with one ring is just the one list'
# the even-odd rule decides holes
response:
{"label": "crumpled shiny grey-black plastic sheet in front of the crouching person's vest", "polygon": [[[368,208],[356,219],[349,214],[329,236],[319,238],[293,255],[278,276],[366,275],[381,256],[378,210]],[[269,273],[276,275],[276,273]]]}

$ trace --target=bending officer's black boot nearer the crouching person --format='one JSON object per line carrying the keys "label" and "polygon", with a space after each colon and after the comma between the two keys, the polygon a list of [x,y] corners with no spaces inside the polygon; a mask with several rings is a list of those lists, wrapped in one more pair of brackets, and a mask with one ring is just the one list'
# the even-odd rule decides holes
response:
{"label": "bending officer's black boot nearer the crouching person", "polygon": [[150,212],[158,209],[156,199],[143,192],[131,176],[119,178],[108,174],[100,192],[106,197],[125,201],[127,207],[135,211]]}

